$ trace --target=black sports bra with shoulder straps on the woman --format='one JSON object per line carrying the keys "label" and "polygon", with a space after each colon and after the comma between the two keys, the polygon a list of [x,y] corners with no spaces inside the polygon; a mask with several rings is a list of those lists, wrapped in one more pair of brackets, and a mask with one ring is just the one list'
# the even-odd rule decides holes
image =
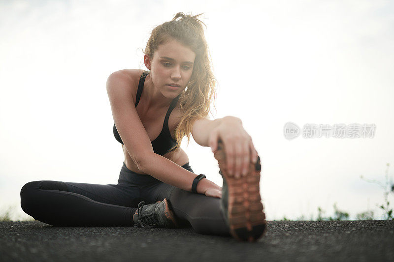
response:
{"label": "black sports bra with shoulder straps on the woman", "polygon": [[[142,89],[144,88],[145,77],[148,75],[148,73],[149,73],[148,71],[143,72],[141,77],[139,78],[137,96],[135,99],[135,107],[137,107],[138,105],[139,98],[141,97],[142,94]],[[175,108],[178,99],[179,99],[179,95],[172,100],[167,110],[167,114],[165,115],[164,118],[162,132],[154,141],[151,142],[153,147],[153,152],[155,152],[156,154],[164,155],[170,152],[171,151],[170,149],[176,145],[176,141],[171,137],[171,133],[169,132],[168,129],[168,118],[172,110]],[[122,145],[124,145],[122,139],[119,136],[118,130],[116,129],[115,123],[114,123],[113,131],[116,140],[122,143]]]}

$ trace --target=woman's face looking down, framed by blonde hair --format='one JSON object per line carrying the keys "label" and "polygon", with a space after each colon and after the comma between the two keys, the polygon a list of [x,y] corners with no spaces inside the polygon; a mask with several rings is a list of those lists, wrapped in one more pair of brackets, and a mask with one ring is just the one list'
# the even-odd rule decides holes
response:
{"label": "woman's face looking down, framed by blonde hair", "polygon": [[153,59],[145,55],[144,60],[146,67],[151,70],[153,85],[165,97],[175,98],[189,83],[195,58],[196,54],[190,48],[170,39],[159,45]]}

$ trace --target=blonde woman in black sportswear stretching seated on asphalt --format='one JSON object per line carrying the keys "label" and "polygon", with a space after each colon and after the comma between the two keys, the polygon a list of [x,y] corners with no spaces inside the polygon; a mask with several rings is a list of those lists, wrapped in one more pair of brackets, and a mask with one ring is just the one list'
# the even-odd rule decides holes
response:
{"label": "blonde woman in black sportswear stretching seated on asphalt", "polygon": [[[118,184],[29,182],[21,190],[26,213],[54,226],[191,225],[249,241],[265,232],[260,158],[250,136],[237,117],[207,117],[215,78],[198,16],[177,13],[153,29],[144,51],[150,71],[108,77],[114,136],[125,154]],[[223,197],[222,187],[193,173],[179,147],[190,134],[218,159]]]}

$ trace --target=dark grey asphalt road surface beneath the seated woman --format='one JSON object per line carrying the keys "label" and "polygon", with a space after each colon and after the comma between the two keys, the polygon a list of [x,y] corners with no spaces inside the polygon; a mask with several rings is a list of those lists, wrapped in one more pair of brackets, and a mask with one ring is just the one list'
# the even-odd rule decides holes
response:
{"label": "dark grey asphalt road surface beneath the seated woman", "polygon": [[394,261],[394,220],[268,221],[255,243],[192,228],[0,222],[0,261]]}

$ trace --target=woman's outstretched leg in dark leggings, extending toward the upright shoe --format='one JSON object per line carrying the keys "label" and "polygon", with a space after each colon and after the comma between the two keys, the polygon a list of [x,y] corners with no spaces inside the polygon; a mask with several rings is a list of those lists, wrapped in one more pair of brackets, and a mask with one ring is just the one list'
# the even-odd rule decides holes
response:
{"label": "woman's outstretched leg in dark leggings, extending toward the upright shoe", "polygon": [[[182,167],[193,172],[189,163]],[[230,236],[219,198],[192,193],[163,182],[141,188],[141,198],[147,203],[166,198],[176,217],[183,222],[188,221],[197,233]]]}

